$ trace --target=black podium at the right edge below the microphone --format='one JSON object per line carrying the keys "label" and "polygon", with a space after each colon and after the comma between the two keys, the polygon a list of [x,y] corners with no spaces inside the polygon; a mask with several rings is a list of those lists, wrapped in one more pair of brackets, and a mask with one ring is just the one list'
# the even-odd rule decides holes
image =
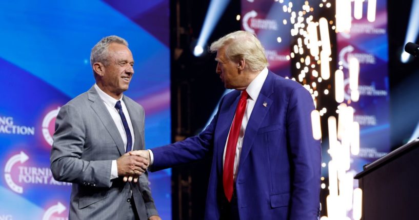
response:
{"label": "black podium at the right edge below the microphone", "polygon": [[354,178],[363,190],[361,219],[419,219],[419,139],[365,166]]}

